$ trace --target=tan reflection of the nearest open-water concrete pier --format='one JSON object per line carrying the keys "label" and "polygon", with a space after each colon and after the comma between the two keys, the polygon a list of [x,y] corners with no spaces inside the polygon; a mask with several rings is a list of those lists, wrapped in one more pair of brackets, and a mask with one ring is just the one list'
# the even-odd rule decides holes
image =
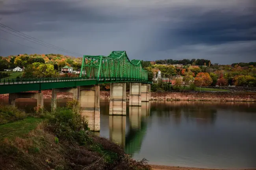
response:
{"label": "tan reflection of the nearest open-water concrete pier", "polygon": [[125,146],[126,116],[109,116],[109,138]]}

